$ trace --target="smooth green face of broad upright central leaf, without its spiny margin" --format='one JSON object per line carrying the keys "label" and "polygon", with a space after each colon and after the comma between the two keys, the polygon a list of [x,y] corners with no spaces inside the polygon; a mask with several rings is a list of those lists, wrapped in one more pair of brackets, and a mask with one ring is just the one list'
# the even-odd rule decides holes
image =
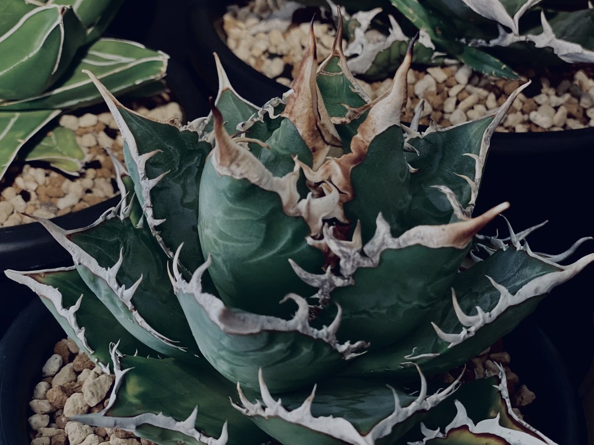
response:
{"label": "smooth green face of broad upright central leaf, without its spiny margin", "polygon": [[287,293],[315,293],[293,272],[289,258],[318,272],[323,256],[305,242],[305,221],[283,212],[279,195],[247,179],[220,176],[208,160],[199,206],[203,254],[212,255],[208,272],[226,304],[255,314],[286,316],[294,308],[279,305]]}

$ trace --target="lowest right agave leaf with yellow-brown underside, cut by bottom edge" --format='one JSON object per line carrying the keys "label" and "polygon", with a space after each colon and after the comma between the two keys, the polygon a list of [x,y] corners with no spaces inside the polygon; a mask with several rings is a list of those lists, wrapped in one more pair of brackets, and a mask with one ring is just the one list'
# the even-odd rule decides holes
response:
{"label": "lowest right agave leaf with yellow-brown underside, cut by bottom edge", "polygon": [[[462,384],[456,392],[454,406],[451,406],[450,399],[429,413],[421,423],[421,434],[424,437],[419,441],[408,442],[409,445],[556,445],[513,412],[505,371],[501,366],[498,367],[499,381],[496,384],[492,383],[497,378]],[[456,415],[444,425],[444,419],[451,418],[454,407]],[[487,408],[490,409],[486,411]],[[447,414],[444,415],[445,413]],[[442,418],[439,419],[439,416]],[[431,422],[429,427],[425,425],[426,421]]]}

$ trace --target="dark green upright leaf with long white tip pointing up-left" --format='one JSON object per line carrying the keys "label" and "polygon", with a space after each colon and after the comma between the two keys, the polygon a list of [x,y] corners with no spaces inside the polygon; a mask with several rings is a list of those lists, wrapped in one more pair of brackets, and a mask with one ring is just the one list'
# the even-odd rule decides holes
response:
{"label": "dark green upright leaf with long white tip pointing up-left", "polygon": [[186,245],[181,261],[187,270],[204,263],[198,238],[197,184],[212,147],[195,131],[156,122],[118,102],[90,72],[122,133],[124,159],[146,222],[168,254]]}

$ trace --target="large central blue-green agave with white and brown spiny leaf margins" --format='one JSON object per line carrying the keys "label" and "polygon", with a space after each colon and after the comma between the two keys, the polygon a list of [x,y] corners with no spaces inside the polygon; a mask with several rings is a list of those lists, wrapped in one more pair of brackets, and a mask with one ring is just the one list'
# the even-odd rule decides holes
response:
{"label": "large central blue-green agave with white and brown spiny leaf margins", "polygon": [[[426,380],[513,329],[594,254],[561,266],[532,229],[472,217],[497,112],[423,134],[400,124],[412,45],[371,101],[340,33],[315,39],[293,88],[258,108],[217,61],[206,118],[184,127],[121,105],[121,203],[86,228],[37,218],[75,266],[7,271],[115,374],[74,419],[160,444],[550,444],[511,411],[505,373]],[[583,241],[583,240],[582,240]],[[477,377],[484,377],[479,375]]]}

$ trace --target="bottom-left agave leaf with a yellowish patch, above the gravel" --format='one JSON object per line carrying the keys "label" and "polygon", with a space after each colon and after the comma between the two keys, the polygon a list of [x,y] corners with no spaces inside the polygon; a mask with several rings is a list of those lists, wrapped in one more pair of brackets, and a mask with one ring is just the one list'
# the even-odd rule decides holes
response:
{"label": "bottom-left agave leaf with a yellowish patch, above the gravel", "polygon": [[132,431],[162,445],[259,445],[268,440],[232,408],[233,384],[206,360],[187,364],[170,358],[121,357],[116,347],[111,349],[115,383],[109,404],[72,420]]}

